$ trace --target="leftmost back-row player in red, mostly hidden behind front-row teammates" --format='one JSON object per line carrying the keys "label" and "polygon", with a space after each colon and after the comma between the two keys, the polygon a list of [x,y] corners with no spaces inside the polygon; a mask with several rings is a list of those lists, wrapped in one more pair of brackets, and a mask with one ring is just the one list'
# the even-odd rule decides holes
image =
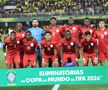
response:
{"label": "leftmost back-row player in red, mostly hidden behind front-row teammates", "polygon": [[[25,37],[25,31],[23,30],[22,23],[16,24],[16,29],[14,30],[16,32],[16,37],[23,39]],[[23,68],[23,56],[24,56],[24,50],[23,47],[20,47],[20,68]],[[15,67],[15,66],[14,66]]]}

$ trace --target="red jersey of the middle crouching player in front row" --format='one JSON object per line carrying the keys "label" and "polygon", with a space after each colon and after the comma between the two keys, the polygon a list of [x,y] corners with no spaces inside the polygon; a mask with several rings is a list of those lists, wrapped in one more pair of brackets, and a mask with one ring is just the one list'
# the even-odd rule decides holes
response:
{"label": "red jersey of the middle crouching player in front row", "polygon": [[54,55],[54,49],[56,49],[56,43],[51,40],[51,42],[46,42],[42,40],[41,47],[44,48],[45,55]]}

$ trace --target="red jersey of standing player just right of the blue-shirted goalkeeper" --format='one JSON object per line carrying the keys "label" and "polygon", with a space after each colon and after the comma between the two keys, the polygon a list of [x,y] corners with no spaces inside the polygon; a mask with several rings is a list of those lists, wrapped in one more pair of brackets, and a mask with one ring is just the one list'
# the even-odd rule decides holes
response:
{"label": "red jersey of standing player just right of the blue-shirted goalkeeper", "polygon": [[61,27],[59,25],[57,25],[56,27],[49,26],[47,30],[52,32],[52,40],[56,43],[59,43],[61,35],[63,33]]}

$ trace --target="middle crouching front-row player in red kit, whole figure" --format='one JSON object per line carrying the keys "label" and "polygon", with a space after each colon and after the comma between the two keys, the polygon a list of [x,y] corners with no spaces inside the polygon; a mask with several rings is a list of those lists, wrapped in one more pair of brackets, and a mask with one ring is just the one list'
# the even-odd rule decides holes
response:
{"label": "middle crouching front-row player in red kit, whole figure", "polygon": [[42,49],[42,67],[48,66],[49,60],[52,60],[52,64],[58,67],[56,43],[52,40],[52,33],[50,31],[45,32],[45,39],[41,42]]}

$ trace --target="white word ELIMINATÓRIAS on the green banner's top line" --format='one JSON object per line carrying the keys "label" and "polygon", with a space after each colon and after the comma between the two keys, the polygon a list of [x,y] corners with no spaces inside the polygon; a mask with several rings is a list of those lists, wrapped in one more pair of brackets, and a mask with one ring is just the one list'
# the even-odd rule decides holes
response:
{"label": "white word ELIMINAT\u00d3RIAS on the green banner's top line", "polygon": [[83,70],[40,71],[40,76],[83,75]]}

